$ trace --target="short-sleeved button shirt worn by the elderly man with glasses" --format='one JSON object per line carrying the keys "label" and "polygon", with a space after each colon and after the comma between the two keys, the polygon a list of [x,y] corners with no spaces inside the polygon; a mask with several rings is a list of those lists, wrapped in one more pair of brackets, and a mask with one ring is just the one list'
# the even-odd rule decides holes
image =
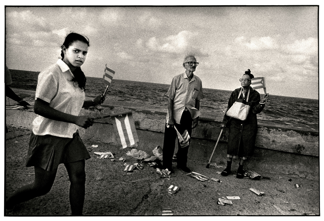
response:
{"label": "short-sleeved button shirt worn by the elderly man with glasses", "polygon": [[[200,111],[195,108],[196,100],[204,98],[202,81],[196,75],[189,81],[186,72],[179,74],[172,79],[166,96],[173,100],[173,118],[176,123],[180,124],[182,112],[186,107],[191,118],[195,119],[200,115]],[[166,119],[168,123],[169,112]]]}

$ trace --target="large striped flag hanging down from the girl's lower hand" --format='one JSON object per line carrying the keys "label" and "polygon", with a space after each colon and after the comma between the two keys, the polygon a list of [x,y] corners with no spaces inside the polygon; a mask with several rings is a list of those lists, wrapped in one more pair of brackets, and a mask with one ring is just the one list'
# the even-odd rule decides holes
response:
{"label": "large striped flag hanging down from the girl's lower hand", "polygon": [[122,148],[138,146],[138,137],[132,112],[111,116]]}

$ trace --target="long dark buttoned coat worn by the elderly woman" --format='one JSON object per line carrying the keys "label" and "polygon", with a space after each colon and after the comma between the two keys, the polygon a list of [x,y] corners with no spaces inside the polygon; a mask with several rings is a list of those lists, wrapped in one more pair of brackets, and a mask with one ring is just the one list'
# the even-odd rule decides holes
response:
{"label": "long dark buttoned coat worn by the elderly woman", "polygon": [[[232,107],[233,103],[238,99],[241,88],[235,89],[228,100],[227,110]],[[242,92],[243,93],[243,92]],[[246,100],[241,94],[240,98]],[[252,156],[255,144],[255,138],[258,130],[257,114],[260,113],[265,104],[260,104],[260,94],[258,91],[250,87],[249,103],[251,108],[245,121],[228,117],[226,114],[223,123],[229,128],[227,154],[239,157]]]}

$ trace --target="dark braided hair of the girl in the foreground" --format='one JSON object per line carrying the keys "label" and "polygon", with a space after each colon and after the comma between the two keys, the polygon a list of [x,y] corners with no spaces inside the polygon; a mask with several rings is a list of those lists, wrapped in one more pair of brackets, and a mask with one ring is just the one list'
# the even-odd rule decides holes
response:
{"label": "dark braided hair of the girl in the foreground", "polygon": [[[69,33],[66,37],[65,37],[65,40],[64,40],[64,43],[63,45],[68,48],[70,47],[75,41],[82,41],[84,43],[87,44],[87,46],[89,47],[89,39],[83,35],[80,35],[80,34],[77,34],[77,33],[74,33],[74,32],[71,32]],[[63,46],[62,45],[62,46]],[[61,57],[62,57],[62,60],[64,59],[64,53],[63,53],[63,50],[61,51]],[[74,81],[74,84],[75,85],[78,85],[79,88],[81,88],[82,90],[86,90],[86,81],[87,81],[87,78],[86,76],[84,75],[83,71],[81,70],[81,68],[77,67],[75,68],[75,70],[72,72],[73,75],[74,75],[74,78],[71,80],[71,81]],[[76,86],[75,86],[76,87]]]}

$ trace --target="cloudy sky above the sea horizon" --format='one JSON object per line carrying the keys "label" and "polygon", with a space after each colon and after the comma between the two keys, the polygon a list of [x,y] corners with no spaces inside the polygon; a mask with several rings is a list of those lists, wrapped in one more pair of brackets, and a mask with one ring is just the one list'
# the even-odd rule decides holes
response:
{"label": "cloudy sky above the sea horizon", "polygon": [[[234,90],[248,68],[274,95],[318,99],[318,8],[6,7],[6,64],[41,71],[70,31],[86,35],[86,76],[170,84],[185,55],[204,88]],[[263,93],[263,90],[258,89]]]}

